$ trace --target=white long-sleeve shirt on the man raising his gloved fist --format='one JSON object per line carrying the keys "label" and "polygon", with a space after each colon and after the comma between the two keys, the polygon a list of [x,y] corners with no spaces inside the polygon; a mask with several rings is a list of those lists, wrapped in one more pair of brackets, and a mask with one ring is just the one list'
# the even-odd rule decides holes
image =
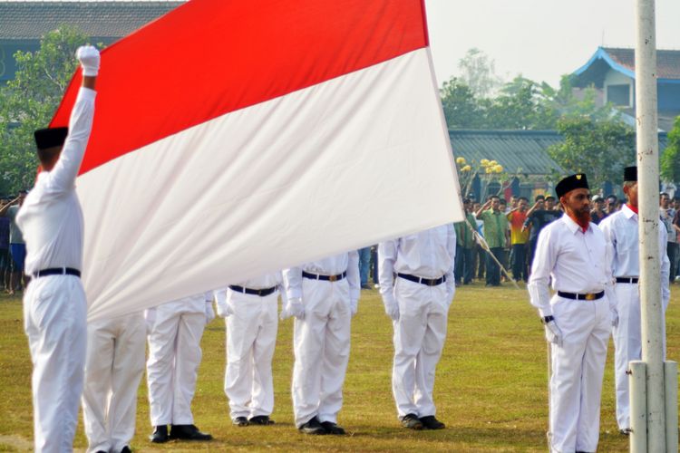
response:
{"label": "white long-sleeve shirt on the man raising his gloved fist", "polygon": [[50,267],[83,266],[83,211],[75,178],[90,139],[95,96],[88,88],[78,92],[59,160],[51,171],[38,175],[16,217],[26,242],[27,275]]}

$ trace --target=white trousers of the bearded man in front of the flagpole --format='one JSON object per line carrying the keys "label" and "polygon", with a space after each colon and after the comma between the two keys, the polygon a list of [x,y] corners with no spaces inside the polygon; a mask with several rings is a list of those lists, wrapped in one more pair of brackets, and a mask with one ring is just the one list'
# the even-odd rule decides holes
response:
{"label": "white trousers of the bearded man in front of the flagpole", "polygon": [[565,299],[557,294],[553,298],[552,311],[564,338],[562,347],[551,345],[551,451],[596,451],[611,332],[607,296],[596,301]]}

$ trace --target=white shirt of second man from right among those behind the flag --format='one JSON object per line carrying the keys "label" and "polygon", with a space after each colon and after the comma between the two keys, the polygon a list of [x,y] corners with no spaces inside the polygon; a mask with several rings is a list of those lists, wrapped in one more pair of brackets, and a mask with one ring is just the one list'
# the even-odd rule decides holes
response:
{"label": "white shirt of second man from right among those behind the flag", "polygon": [[350,302],[355,304],[359,300],[359,253],[356,250],[285,269],[283,277],[288,299],[302,297],[302,271],[316,275],[340,275],[346,272]]}

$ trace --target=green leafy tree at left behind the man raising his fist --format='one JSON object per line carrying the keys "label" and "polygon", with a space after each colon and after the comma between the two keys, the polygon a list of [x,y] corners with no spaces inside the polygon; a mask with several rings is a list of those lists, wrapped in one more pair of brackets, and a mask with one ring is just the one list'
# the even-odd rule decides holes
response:
{"label": "green leafy tree at left behind the man raising his fist", "polygon": [[52,120],[75,71],[75,51],[87,42],[79,30],[63,25],[45,34],[34,53],[15,53],[15,79],[0,88],[0,193],[33,185],[33,132]]}

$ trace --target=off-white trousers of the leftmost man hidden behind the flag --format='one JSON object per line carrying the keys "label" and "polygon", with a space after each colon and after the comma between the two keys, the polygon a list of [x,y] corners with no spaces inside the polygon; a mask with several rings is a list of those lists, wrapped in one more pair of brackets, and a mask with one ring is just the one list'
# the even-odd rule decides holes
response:
{"label": "off-white trousers of the leftmost man hidden behind the flag", "polygon": [[88,453],[121,451],[134,436],[145,336],[142,312],[88,323],[83,388]]}

